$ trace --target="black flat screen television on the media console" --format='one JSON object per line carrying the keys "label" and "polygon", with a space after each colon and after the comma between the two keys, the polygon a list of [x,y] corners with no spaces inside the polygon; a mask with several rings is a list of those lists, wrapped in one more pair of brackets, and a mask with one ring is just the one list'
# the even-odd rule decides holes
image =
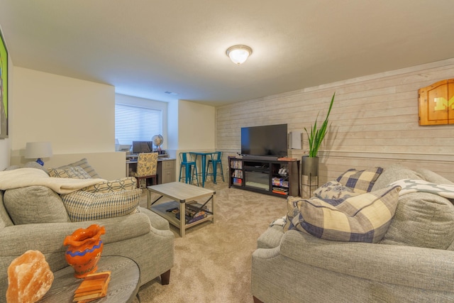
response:
{"label": "black flat screen television on the media console", "polygon": [[287,156],[287,124],[241,128],[243,155]]}

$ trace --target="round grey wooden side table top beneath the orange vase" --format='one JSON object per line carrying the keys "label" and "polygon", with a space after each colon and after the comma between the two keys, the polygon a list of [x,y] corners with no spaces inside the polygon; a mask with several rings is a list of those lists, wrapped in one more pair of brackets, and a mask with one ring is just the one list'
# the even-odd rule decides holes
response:
{"label": "round grey wooden side table top beneath the orange vase", "polygon": [[[117,255],[105,256],[99,259],[96,272],[111,272],[111,280],[106,297],[97,299],[98,302],[133,302],[139,290],[140,270],[131,259]],[[72,302],[74,291],[82,283],[82,279],[74,277],[71,266],[54,272],[52,287],[39,302]]]}

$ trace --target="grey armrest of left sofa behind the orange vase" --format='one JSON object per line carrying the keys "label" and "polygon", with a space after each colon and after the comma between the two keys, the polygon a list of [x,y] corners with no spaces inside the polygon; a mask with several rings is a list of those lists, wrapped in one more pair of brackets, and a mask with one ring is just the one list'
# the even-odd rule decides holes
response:
{"label": "grey armrest of left sofa behind the orange vase", "polygon": [[105,226],[106,234],[101,236],[105,244],[142,236],[149,233],[151,228],[148,216],[140,213],[96,221],[6,226],[0,231],[0,257],[22,255],[26,250],[64,252],[65,237],[77,228],[87,228],[91,224]]}

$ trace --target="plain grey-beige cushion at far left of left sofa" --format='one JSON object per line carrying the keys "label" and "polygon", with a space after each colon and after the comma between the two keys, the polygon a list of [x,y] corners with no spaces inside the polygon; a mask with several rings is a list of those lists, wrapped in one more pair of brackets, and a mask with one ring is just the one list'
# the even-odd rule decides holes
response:
{"label": "plain grey-beige cushion at far left of left sofa", "polygon": [[44,186],[8,189],[4,206],[16,225],[70,222],[60,196]]}

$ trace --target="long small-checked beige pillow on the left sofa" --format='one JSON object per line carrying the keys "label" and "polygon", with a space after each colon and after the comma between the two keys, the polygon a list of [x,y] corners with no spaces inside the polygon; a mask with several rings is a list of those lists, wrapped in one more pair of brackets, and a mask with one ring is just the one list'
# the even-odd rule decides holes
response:
{"label": "long small-checked beige pillow on the left sofa", "polygon": [[62,194],[71,221],[89,221],[126,216],[138,212],[142,189],[121,192],[84,192]]}

